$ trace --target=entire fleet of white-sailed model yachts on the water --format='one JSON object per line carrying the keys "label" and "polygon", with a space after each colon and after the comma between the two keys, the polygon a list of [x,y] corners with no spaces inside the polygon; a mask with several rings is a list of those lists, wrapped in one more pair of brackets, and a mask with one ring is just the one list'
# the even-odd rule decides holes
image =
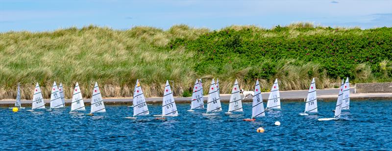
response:
{"label": "entire fleet of white-sailed model yachts on the water", "polygon": [[[335,114],[333,118],[321,118],[318,119],[319,121],[329,121],[329,120],[339,120],[341,117],[341,113],[343,109],[349,109],[349,81],[348,77],[346,78],[345,82],[342,80],[341,87],[339,89],[339,95],[335,106]],[[243,121],[255,121],[257,117],[266,116],[264,103],[262,99],[261,89],[259,80],[256,80],[256,84],[254,87],[254,96],[252,102],[252,116],[249,119],[243,119]],[[64,91],[62,83],[60,83],[60,87],[57,88],[56,82],[53,83],[50,95],[50,108],[61,108],[64,107]],[[145,96],[143,94],[142,88],[140,86],[139,80],[136,81],[135,89],[133,93],[133,116],[126,117],[128,119],[136,119],[137,116],[149,115],[149,111],[147,108],[147,102],[145,100]],[[20,85],[18,84],[17,90],[17,98],[15,101],[15,107],[21,107],[20,101]],[[201,79],[196,79],[192,100],[191,100],[191,110],[194,109],[203,109],[204,102],[203,102],[203,88]],[[279,87],[277,79],[272,85],[271,92],[269,95],[267,108],[266,109],[280,109],[280,94],[279,94]],[[34,88],[33,92],[33,100],[32,100],[32,108],[31,110],[27,111],[34,111],[37,109],[45,109],[45,102],[41,93],[41,88],[38,83]],[[77,111],[85,111],[84,101],[82,98],[81,90],[79,84],[76,82],[74,91],[73,91],[73,98],[71,103],[71,112]],[[214,79],[211,81],[208,99],[207,99],[207,111],[206,113],[202,113],[203,116],[208,115],[219,115],[218,112],[222,110],[221,101],[220,101],[220,94],[219,94],[219,81],[215,83]],[[93,93],[92,93],[92,101],[91,101],[91,111],[87,115],[94,115],[94,113],[106,112],[105,105],[103,103],[102,95],[100,89],[98,87],[98,83],[95,82]],[[237,79],[234,82],[231,96],[229,100],[229,107],[228,112],[226,114],[233,114],[233,112],[243,112],[243,104],[240,95],[240,87],[238,84]],[[317,105],[317,91],[316,91],[316,83],[315,78],[312,79],[310,84],[308,95],[305,102],[305,110],[300,115],[309,115],[309,113],[317,113],[318,112],[318,105]],[[164,89],[164,96],[162,101],[162,114],[161,115],[154,115],[158,117],[156,119],[166,119],[166,117],[175,117],[178,116],[178,110],[174,101],[174,97],[172,94],[172,89],[169,84],[169,81],[166,81],[166,86]]]}

